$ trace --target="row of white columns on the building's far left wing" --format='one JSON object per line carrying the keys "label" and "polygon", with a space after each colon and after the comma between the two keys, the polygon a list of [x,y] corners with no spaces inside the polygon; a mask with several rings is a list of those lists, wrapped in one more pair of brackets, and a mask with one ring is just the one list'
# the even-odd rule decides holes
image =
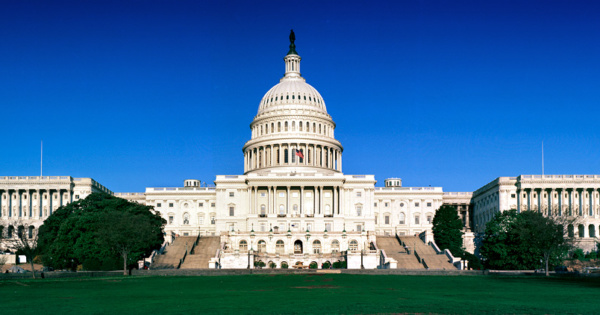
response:
{"label": "row of white columns on the building's far left wing", "polygon": [[5,218],[45,218],[72,201],[71,189],[0,189],[0,209]]}

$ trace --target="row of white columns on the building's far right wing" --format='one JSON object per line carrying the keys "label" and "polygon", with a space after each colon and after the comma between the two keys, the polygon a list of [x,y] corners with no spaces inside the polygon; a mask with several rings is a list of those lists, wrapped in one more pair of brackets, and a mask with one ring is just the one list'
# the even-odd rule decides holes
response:
{"label": "row of white columns on the building's far right wing", "polygon": [[524,188],[517,209],[553,216],[600,216],[600,188]]}

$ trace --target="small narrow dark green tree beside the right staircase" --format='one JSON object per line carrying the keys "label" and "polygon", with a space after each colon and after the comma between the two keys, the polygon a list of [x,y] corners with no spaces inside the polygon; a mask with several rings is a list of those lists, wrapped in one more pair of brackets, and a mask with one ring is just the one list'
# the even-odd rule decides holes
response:
{"label": "small narrow dark green tree beside the right staircase", "polygon": [[440,249],[448,249],[454,256],[462,256],[464,253],[462,228],[463,223],[455,207],[443,205],[435,212],[433,239]]}

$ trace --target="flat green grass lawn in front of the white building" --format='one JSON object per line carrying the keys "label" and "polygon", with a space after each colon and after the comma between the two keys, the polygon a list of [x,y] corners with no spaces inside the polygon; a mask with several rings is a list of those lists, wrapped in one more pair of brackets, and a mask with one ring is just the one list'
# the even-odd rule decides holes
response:
{"label": "flat green grass lawn in front of the white building", "polygon": [[600,279],[245,275],[0,281],[11,314],[600,313]]}

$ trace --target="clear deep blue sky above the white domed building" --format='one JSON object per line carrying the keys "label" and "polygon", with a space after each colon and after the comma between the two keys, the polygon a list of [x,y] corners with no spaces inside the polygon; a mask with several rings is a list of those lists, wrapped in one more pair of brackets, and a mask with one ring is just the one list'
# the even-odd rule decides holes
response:
{"label": "clear deep blue sky above the white domed building", "polygon": [[598,1],[2,1],[0,175],[243,173],[291,28],[346,174],[600,174]]}

